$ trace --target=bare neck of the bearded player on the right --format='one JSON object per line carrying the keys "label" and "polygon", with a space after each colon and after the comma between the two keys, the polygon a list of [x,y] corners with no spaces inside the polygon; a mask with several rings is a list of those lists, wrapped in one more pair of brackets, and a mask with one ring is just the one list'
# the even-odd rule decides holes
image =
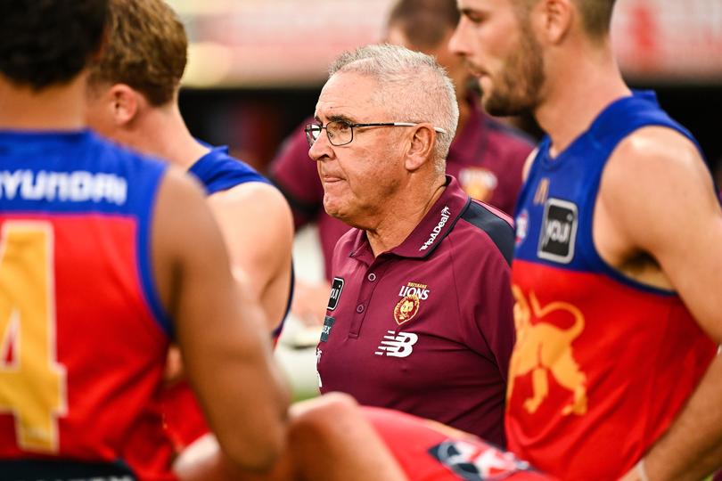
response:
{"label": "bare neck of the bearded player on the right", "polygon": [[552,139],[553,156],[586,132],[611,102],[631,94],[611,49],[578,52],[558,63],[535,111],[539,126]]}

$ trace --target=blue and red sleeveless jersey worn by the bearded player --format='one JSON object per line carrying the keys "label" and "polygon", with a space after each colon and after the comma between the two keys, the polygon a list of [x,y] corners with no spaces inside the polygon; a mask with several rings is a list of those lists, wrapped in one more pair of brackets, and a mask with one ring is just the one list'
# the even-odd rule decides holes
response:
{"label": "blue and red sleeveless jersey worn by the bearded player", "polygon": [[516,209],[509,448],[565,479],[631,469],[716,352],[677,293],[624,277],[592,240],[603,167],[644,126],[693,141],[653,93],[622,98],[555,159],[550,139],[540,143]]}

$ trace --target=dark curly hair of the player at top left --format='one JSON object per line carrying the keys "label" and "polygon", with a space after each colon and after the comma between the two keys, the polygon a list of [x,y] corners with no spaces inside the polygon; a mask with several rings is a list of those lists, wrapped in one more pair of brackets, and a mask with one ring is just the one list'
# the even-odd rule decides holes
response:
{"label": "dark curly hair of the player at top left", "polygon": [[36,91],[76,77],[103,42],[108,0],[0,0],[0,73]]}

